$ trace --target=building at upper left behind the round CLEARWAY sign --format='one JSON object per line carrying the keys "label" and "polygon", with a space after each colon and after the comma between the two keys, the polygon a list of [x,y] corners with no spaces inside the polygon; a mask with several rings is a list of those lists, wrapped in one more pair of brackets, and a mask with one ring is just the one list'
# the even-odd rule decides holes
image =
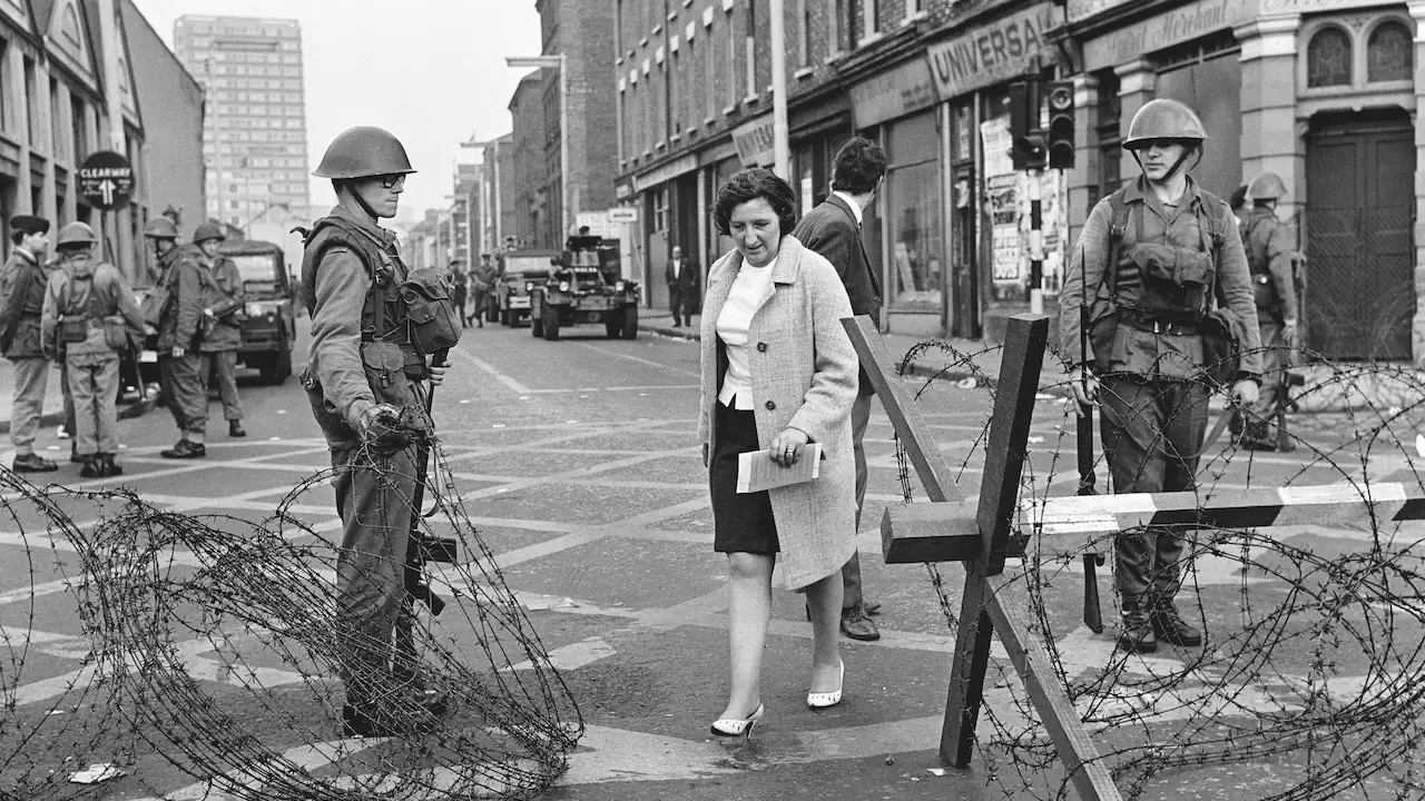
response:
{"label": "building at upper left behind the round CLEARWAY sign", "polygon": [[[202,93],[131,1],[113,7],[107,26],[97,3],[0,3],[0,235],[16,214],[88,222],[134,281],[148,217],[170,204],[201,214]],[[77,172],[115,148],[134,192],[104,214],[78,197]]]}

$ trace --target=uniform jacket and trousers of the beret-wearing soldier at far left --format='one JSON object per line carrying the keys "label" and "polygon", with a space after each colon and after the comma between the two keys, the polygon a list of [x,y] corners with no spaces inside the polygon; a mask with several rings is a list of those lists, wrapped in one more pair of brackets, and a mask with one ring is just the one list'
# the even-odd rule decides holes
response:
{"label": "uniform jacket and trousers of the beret-wearing soldier at far left", "polygon": [[[43,221],[40,221],[43,222]],[[44,229],[48,224],[44,222]],[[34,455],[40,430],[50,362],[41,341],[44,288],[50,272],[36,254],[16,247],[0,271],[0,351],[14,365],[14,396],[10,406],[10,442],[19,456]],[[21,459],[17,466],[21,466]],[[36,459],[36,463],[41,462]],[[40,466],[53,470],[53,463]]]}

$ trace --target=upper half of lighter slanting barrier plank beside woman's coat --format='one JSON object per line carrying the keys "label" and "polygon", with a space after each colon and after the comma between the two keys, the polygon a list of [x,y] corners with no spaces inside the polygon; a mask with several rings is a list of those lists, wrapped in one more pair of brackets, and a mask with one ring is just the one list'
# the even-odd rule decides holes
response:
{"label": "upper half of lighter slanting barrier plank beside woman's coat", "polygon": [[921,479],[921,486],[925,487],[925,495],[935,502],[965,500],[965,493],[955,483],[945,455],[940,453],[935,438],[931,436],[921,408],[896,376],[895,358],[886,351],[885,341],[881,339],[881,332],[871,322],[871,316],[849,316],[842,319],[841,325],[846,328],[851,345],[861,359],[861,369],[866,371],[866,376],[871,378],[876,398],[881,399],[886,416],[891,418],[891,425],[901,436],[901,445]]}

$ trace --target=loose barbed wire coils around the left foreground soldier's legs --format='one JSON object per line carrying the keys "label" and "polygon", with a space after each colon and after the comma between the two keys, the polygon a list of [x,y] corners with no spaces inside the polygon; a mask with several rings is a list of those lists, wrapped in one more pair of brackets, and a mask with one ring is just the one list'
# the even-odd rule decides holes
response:
{"label": "loose barbed wire coils around the left foreground soldier's legs", "polygon": [[[0,470],[0,529],[30,576],[0,604],[0,798],[100,795],[103,784],[68,781],[87,760],[115,772],[162,760],[187,777],[184,798],[539,795],[566,770],[583,718],[470,523],[439,442],[432,453],[418,533],[455,539],[463,556],[428,566],[449,603],[439,617],[416,607],[402,619],[413,648],[398,654],[409,664],[358,674],[348,660],[352,681],[379,688],[373,703],[390,721],[366,738],[341,731],[343,654],[392,643],[338,613],[336,573],[352,569],[332,519],[338,469],[258,522],[165,510],[128,490],[40,489]],[[410,505],[412,482],[389,458],[361,459],[392,503]],[[396,559],[356,584],[400,574]],[[37,573],[58,577],[36,583]],[[38,599],[58,593],[76,614],[38,619]],[[76,658],[78,670],[28,678],[27,668]],[[422,703],[430,697],[442,701],[436,714]]]}

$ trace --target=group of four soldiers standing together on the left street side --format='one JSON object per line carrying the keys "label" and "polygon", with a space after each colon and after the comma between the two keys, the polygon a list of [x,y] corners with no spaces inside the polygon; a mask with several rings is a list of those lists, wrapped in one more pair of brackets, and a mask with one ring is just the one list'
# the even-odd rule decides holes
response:
{"label": "group of four soldiers standing together on the left street side", "polygon": [[178,443],[162,456],[205,455],[209,375],[221,388],[229,435],[247,436],[235,379],[242,277],[218,254],[225,238],[218,224],[204,222],[184,247],[168,217],[144,225],[155,259],[148,267],[154,288],[142,308],[123,272],[97,257],[98,238],[86,222],[58,231],[53,259],[46,258],[47,219],[20,215],[10,229],[13,248],[0,271],[0,352],[14,365],[14,472],[58,470],[34,452],[50,366],[58,365],[70,460],[80,465],[81,477],[123,473],[115,460],[120,359],[142,348],[148,326],[158,331],[161,391],[180,429]]}

